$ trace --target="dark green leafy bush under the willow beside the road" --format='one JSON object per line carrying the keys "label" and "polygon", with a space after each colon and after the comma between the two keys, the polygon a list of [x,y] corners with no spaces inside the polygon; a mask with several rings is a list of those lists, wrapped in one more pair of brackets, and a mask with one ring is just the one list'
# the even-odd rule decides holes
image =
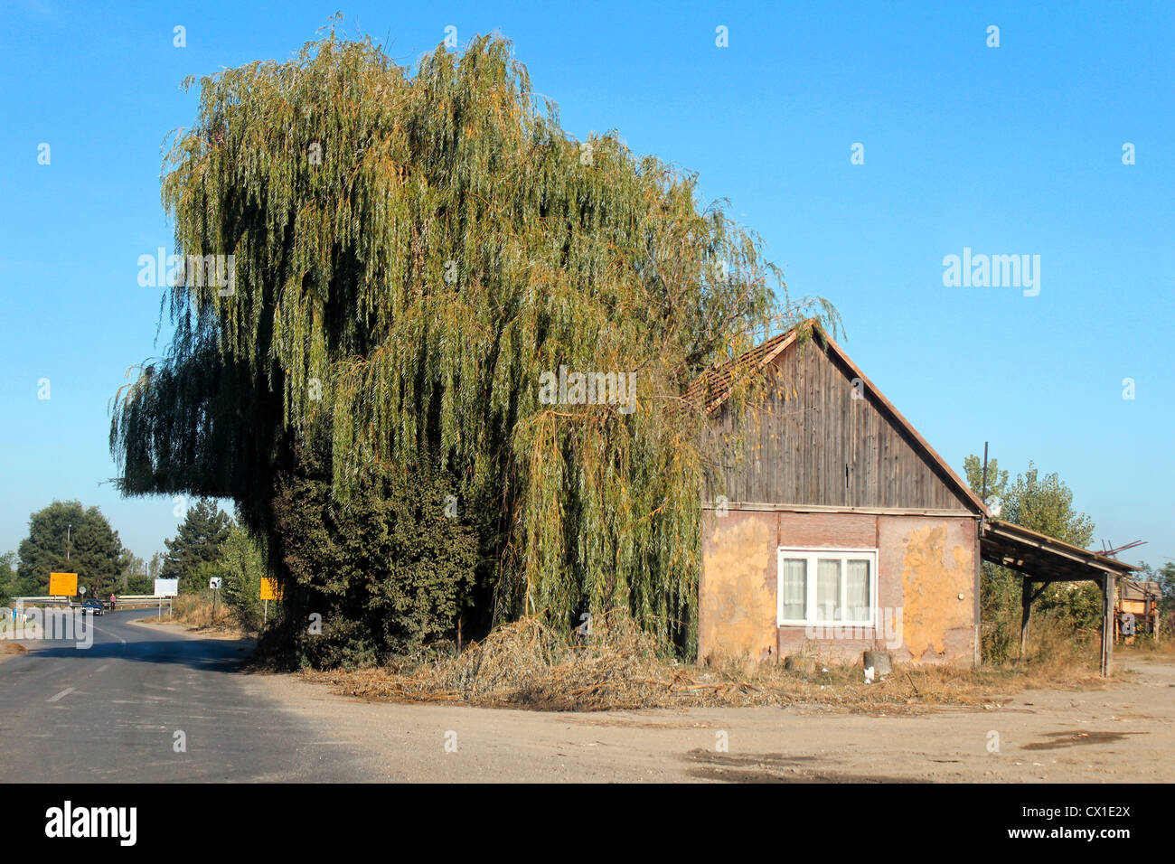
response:
{"label": "dark green leafy bush under the willow beside the road", "polygon": [[[452,478],[431,460],[372,467],[344,508],[330,495],[329,450],[301,453],[274,504],[300,589],[288,608],[298,655],[313,665],[361,665],[454,637],[474,592],[478,537]],[[311,615],[321,634],[309,630]]]}

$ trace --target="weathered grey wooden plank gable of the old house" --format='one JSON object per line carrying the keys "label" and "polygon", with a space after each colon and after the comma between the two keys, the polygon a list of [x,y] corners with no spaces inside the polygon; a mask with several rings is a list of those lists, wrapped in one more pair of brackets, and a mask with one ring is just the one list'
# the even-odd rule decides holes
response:
{"label": "weathered grey wooden plank gable of the old house", "polygon": [[854,388],[852,370],[815,341],[785,350],[765,374],[771,395],[746,423],[740,464],[721,443],[734,413],[724,406],[716,414],[710,502],[725,495],[764,504],[969,509],[885,406]]}

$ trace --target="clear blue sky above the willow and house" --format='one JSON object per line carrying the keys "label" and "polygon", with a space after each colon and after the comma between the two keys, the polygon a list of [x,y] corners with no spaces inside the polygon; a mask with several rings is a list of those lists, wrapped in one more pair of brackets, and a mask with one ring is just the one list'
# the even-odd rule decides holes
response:
{"label": "clear blue sky above the willow and house", "polygon": [[[179,83],[288,58],[338,9],[402,63],[449,25],[461,45],[502,32],[571,134],[615,128],[730,199],[956,470],[991,441],[1013,474],[1059,473],[1099,545],[1175,556],[1166,2],[5,4],[0,551],[53,498],[99,505],[143,557],[174,534],[170,498],[107,482],[107,435],[125,370],[168,331],[156,343],[136,260],[172,246],[160,145],[195,113]],[[942,259],[965,247],[1040,255],[1040,294],[945,287]]]}

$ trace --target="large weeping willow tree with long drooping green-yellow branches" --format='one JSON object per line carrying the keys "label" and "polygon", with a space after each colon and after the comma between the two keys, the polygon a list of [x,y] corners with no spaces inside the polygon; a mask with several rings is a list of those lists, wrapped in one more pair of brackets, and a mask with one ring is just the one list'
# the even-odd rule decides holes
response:
{"label": "large weeping willow tree with long drooping green-yellow branches", "polygon": [[[414,74],[333,32],[202,79],[162,183],[176,253],[231,255],[235,283],[167,289],[174,341],[114,404],[127,494],[231,497],[280,542],[274,477],[325,428],[340,507],[428,457],[489,513],[495,619],[623,608],[689,637],[683,393],[803,306],[692,176],[571,139],[502,38]],[[552,403],[560,368],[624,373],[634,402]]]}

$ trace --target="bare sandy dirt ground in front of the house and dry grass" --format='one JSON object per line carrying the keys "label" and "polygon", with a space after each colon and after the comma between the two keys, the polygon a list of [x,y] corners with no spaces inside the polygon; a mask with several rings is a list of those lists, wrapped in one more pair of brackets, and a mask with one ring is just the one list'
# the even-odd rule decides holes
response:
{"label": "bare sandy dirt ground in front of the house and dry grass", "polygon": [[[919,714],[803,701],[559,714],[459,699],[357,701],[298,675],[251,676],[249,684],[331,743],[352,744],[358,770],[381,782],[1167,783],[1175,776],[1175,664],[1136,668],[1103,686],[1023,689],[1006,703]],[[1053,743],[1058,731],[1146,735],[1032,746]],[[456,752],[445,750],[450,734]]]}

